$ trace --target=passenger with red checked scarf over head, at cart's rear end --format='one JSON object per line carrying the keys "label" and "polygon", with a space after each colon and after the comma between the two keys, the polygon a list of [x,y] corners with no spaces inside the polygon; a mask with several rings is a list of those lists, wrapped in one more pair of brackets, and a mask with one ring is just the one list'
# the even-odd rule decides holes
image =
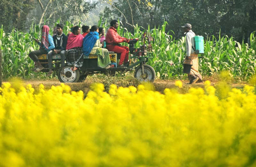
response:
{"label": "passenger with red checked scarf over head, at cart's rear end", "polygon": [[53,39],[52,39],[52,36],[49,34],[49,30],[50,28],[46,25],[42,27],[41,43],[39,42],[39,40],[35,39],[37,44],[40,45],[40,49],[36,51],[32,51],[28,55],[36,64],[33,69],[34,72],[36,73],[44,69],[39,59],[37,58],[37,56],[41,54],[47,54],[49,51],[51,51],[54,48]]}

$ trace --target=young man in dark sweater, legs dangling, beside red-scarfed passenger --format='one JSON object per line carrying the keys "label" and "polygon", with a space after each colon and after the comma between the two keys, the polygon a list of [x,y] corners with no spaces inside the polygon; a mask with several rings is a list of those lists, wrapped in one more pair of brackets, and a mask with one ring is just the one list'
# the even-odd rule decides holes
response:
{"label": "young man in dark sweater, legs dangling, beside red-scarfed passenger", "polygon": [[56,29],[57,34],[52,37],[55,48],[52,51],[48,52],[48,54],[47,54],[49,72],[46,76],[50,76],[53,73],[53,71],[52,71],[52,54],[60,54],[60,57],[61,57],[61,72],[60,72],[60,74],[62,76],[65,75],[65,73],[64,73],[65,52],[66,52],[65,50],[66,50],[66,46],[67,46],[68,37],[65,36],[65,34],[62,31],[62,29],[63,29],[62,24],[57,24],[56,27],[57,27],[57,29]]}

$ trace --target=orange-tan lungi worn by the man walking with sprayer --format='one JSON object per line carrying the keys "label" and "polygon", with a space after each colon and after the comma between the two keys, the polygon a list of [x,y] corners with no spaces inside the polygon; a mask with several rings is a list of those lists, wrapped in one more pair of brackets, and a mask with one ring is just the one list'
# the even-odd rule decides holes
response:
{"label": "orange-tan lungi worn by the man walking with sprayer", "polygon": [[[190,60],[192,60],[192,62]],[[198,54],[191,53],[189,59],[184,60],[184,64],[191,64],[191,70],[188,74],[189,81],[193,80],[195,77],[198,77],[198,81],[196,83],[202,82],[202,75],[198,71]]]}

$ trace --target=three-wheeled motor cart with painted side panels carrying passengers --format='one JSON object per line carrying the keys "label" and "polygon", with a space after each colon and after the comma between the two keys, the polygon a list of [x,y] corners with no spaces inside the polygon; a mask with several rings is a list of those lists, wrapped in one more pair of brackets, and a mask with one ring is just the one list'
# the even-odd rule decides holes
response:
{"label": "three-wheeled motor cart with painted side panels carrying passengers", "polygon": [[[135,67],[135,73],[134,77],[137,78],[140,81],[149,81],[153,82],[156,78],[156,73],[154,68],[147,65],[149,58],[153,57],[152,52],[152,45],[154,43],[154,38],[150,35],[147,35],[144,33],[141,38],[142,45],[140,48],[134,48],[134,44],[137,43],[137,39],[129,39],[127,40],[127,43],[129,44],[129,52],[131,53],[130,60],[135,60],[134,63],[130,61],[130,64],[128,67],[117,67],[118,62],[120,60],[120,54],[115,52],[109,52],[111,64],[113,68],[99,68],[97,65],[98,57],[97,55],[84,55],[84,62],[83,66],[78,68],[75,71],[72,71],[72,66],[68,66],[67,64],[64,67],[64,73],[65,75],[62,76],[60,74],[60,64],[61,59],[60,55],[52,55],[52,70],[58,73],[58,79],[60,82],[79,82],[84,80],[88,75],[90,74],[96,74],[96,73],[104,73],[106,75],[115,75],[116,72],[119,73],[125,73],[127,71],[131,71]],[[39,61],[44,66],[44,69],[41,72],[48,72],[48,60],[47,55],[39,55],[38,56]]]}

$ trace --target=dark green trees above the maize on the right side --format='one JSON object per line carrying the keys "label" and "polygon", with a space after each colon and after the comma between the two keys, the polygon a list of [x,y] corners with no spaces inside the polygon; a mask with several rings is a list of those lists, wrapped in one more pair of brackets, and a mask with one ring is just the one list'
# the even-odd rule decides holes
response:
{"label": "dark green trees above the maize on the right side", "polygon": [[[183,36],[180,26],[192,24],[198,35],[233,36],[239,42],[255,30],[255,0],[117,0],[108,1],[104,16],[118,17],[131,25],[151,27],[168,22],[166,31],[172,30],[176,38]],[[128,3],[129,2],[129,3]],[[112,4],[111,4],[112,3]],[[150,4],[150,5],[148,5]],[[129,25],[127,24],[127,25]],[[161,26],[160,26],[161,27]]]}

